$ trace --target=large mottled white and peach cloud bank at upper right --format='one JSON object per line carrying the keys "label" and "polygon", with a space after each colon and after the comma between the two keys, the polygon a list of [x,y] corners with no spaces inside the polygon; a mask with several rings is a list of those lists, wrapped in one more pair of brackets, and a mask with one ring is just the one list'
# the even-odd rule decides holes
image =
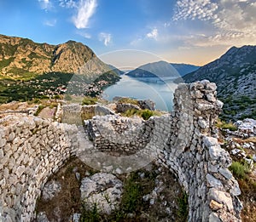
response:
{"label": "large mottled white and peach cloud bank at upper right", "polygon": [[188,20],[196,31],[202,27],[205,36],[194,32],[186,39],[195,46],[255,44],[255,11],[255,0],[178,0],[172,22]]}

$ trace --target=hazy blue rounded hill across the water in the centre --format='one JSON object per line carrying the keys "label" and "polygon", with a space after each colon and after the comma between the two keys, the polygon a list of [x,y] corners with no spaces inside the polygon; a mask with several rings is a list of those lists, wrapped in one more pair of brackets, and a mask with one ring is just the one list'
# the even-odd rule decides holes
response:
{"label": "hazy blue rounded hill across the water in the centre", "polygon": [[177,70],[166,61],[141,65],[126,75],[130,77],[179,77]]}

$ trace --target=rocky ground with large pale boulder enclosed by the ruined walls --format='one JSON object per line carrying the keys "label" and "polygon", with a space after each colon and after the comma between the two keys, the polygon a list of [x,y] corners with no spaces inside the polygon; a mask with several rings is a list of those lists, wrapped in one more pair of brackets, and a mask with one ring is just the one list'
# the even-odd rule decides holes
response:
{"label": "rocky ground with large pale boulder enclosed by the ruined walls", "polygon": [[154,163],[114,175],[73,158],[44,186],[37,213],[38,222],[186,221],[188,202],[175,176]]}

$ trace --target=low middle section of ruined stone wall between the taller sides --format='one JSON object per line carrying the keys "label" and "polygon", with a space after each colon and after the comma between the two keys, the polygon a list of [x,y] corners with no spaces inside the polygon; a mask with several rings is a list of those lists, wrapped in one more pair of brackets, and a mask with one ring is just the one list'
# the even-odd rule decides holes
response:
{"label": "low middle section of ruined stone wall between the taller sides", "polygon": [[112,155],[131,155],[143,149],[150,140],[150,122],[141,118],[111,115],[84,121],[85,128],[99,151]]}

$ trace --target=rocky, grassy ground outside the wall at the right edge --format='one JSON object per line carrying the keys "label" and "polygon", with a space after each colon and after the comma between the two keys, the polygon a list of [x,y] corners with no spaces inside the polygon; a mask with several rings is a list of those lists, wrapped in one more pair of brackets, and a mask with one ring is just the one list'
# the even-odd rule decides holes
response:
{"label": "rocky, grassy ground outside the wall at the right edge", "polygon": [[256,221],[256,121],[245,119],[220,127],[219,135],[222,147],[232,157],[230,170],[241,189],[241,219]]}

